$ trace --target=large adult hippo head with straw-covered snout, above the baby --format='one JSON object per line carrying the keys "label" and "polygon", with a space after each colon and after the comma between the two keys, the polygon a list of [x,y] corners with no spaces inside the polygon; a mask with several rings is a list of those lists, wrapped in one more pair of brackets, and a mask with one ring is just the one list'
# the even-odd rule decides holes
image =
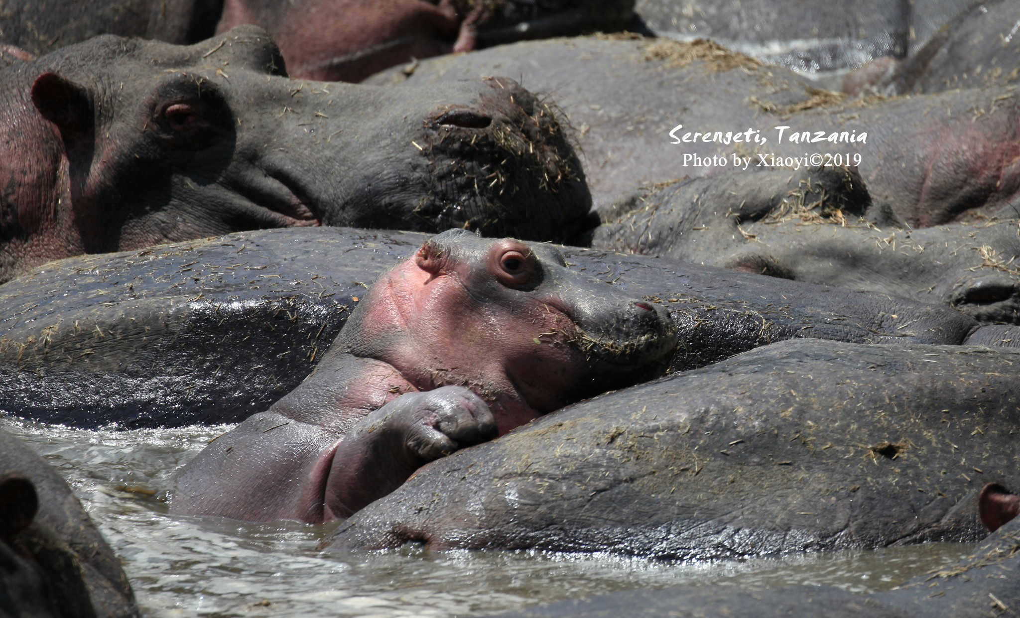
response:
{"label": "large adult hippo head with straw-covered snout, above the baby", "polygon": [[418,91],[287,78],[267,35],[98,37],[0,70],[0,280],[82,253],[354,225],[563,238],[590,196],[509,80]]}

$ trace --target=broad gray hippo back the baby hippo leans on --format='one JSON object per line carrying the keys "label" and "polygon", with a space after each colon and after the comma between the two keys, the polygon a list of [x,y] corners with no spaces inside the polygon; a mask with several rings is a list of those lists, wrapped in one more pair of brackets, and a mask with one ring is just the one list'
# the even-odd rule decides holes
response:
{"label": "broad gray hippo back the baby hippo leans on", "polygon": [[979,538],[1020,351],[817,340],[603,395],[422,468],[325,545],[666,559]]}

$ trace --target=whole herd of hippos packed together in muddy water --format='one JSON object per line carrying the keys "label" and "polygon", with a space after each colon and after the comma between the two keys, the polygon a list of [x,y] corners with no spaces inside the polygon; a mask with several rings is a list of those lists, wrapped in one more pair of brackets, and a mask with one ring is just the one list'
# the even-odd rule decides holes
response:
{"label": "whole herd of hippos packed together in muddy water", "polygon": [[[1009,0],[3,2],[0,410],[323,548],[983,538],[515,616],[1016,615],[1018,86]],[[0,427],[0,616],[137,614]]]}

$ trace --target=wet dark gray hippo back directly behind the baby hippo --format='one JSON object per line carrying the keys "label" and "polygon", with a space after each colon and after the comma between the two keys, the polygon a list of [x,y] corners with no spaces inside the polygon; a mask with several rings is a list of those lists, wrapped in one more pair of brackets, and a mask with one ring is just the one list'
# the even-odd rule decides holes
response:
{"label": "wet dark gray hippo back directly behind the baby hippo", "polygon": [[[0,409],[75,426],[244,420],[294,390],[371,281],[427,238],[270,229],[44,265],[0,286]],[[988,328],[891,296],[562,251],[570,268],[671,310],[674,371],[792,338],[955,345]]]}

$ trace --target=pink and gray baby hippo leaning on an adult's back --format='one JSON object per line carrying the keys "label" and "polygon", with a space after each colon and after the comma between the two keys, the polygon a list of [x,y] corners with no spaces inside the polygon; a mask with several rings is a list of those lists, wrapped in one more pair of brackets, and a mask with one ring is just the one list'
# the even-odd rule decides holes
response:
{"label": "pink and gray baby hippo leaning on an adult's back", "polygon": [[661,374],[676,344],[665,310],[554,247],[451,229],[382,274],[301,385],[182,468],[170,508],[348,517],[431,460]]}

